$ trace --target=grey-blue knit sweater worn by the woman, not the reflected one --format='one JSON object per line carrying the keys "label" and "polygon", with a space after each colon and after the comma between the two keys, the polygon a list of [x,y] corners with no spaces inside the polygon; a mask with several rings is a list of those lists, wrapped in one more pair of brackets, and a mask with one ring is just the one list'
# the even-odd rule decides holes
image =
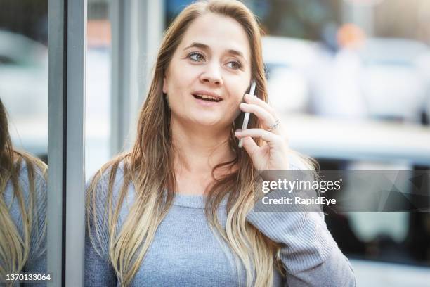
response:
{"label": "grey-blue knit sweater worn by the woman, not the reflected one", "polygon": [[[89,287],[119,286],[107,252],[107,228],[102,222],[107,179],[106,172],[96,187],[101,256],[86,233],[85,286]],[[122,169],[119,168],[114,196],[119,193],[122,181]],[[131,184],[120,211],[119,228],[134,194]],[[217,240],[209,227],[204,215],[204,200],[204,196],[176,194],[174,205],[159,225],[131,286],[245,286],[245,273],[238,276],[231,263],[233,253],[225,243]],[[224,201],[219,209],[223,226],[226,223],[225,207]],[[250,212],[247,220],[268,238],[283,245],[281,260],[287,276],[282,278],[275,271],[273,286],[356,286],[351,264],[327,230],[323,213]]]}

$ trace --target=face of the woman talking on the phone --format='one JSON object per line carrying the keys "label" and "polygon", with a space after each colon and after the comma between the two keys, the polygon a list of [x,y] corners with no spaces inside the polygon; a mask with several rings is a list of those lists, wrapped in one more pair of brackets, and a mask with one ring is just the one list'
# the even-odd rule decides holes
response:
{"label": "face of the woman talking on the phone", "polygon": [[233,18],[207,13],[185,32],[164,77],[171,119],[230,128],[251,82],[247,34]]}

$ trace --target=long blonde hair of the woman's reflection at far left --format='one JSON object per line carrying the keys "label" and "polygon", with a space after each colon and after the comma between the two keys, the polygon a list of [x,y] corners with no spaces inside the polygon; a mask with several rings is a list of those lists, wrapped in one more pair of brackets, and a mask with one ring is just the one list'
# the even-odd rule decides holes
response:
{"label": "long blonde hair of the woman's reflection at far left", "polygon": [[[20,184],[23,161],[27,167],[29,182],[27,198]],[[43,237],[45,234],[45,227],[43,227],[44,230],[34,230],[34,228],[39,229],[39,224],[34,224],[34,220],[40,216],[36,199],[36,169],[46,180],[44,162],[28,153],[13,149],[8,133],[6,109],[0,100],[0,282],[5,279],[6,274],[15,274],[22,270],[29,258],[30,251],[32,253],[41,252],[40,250],[30,250],[32,240],[38,242],[35,245],[38,247],[42,240],[42,238],[34,240],[33,236],[41,234]],[[22,236],[11,217],[11,204],[8,205],[4,198],[8,184],[11,184],[13,190],[11,203],[16,198],[20,209]],[[12,283],[10,284],[12,285]]]}

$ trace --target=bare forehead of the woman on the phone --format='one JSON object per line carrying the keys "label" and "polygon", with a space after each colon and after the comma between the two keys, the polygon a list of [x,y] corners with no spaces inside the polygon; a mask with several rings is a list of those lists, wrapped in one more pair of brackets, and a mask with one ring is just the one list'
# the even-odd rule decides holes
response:
{"label": "bare forehead of the woman on the phone", "polygon": [[[196,45],[197,44],[197,45]],[[236,20],[214,13],[195,19],[185,32],[181,49],[200,46],[213,51],[237,51],[249,59],[249,40],[242,25]]]}

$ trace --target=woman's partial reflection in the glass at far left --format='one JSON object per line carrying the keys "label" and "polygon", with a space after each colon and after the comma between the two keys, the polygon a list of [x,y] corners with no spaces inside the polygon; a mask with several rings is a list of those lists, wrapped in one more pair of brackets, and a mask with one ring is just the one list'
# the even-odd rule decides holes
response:
{"label": "woman's partial reflection in the glass at far left", "polygon": [[45,210],[46,165],[13,149],[0,100],[0,285],[15,286],[6,274],[46,274]]}

